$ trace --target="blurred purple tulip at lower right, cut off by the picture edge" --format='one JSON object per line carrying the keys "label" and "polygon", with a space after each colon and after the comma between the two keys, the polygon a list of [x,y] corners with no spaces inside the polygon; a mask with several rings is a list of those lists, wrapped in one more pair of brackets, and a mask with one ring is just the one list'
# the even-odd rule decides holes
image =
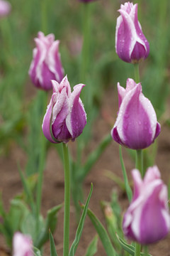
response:
{"label": "blurred purple tulip at lower right, cut off by the picture edge", "polygon": [[134,196],[123,218],[123,232],[130,240],[148,245],[164,238],[170,229],[168,193],[157,166],[147,169],[144,180],[132,170]]}

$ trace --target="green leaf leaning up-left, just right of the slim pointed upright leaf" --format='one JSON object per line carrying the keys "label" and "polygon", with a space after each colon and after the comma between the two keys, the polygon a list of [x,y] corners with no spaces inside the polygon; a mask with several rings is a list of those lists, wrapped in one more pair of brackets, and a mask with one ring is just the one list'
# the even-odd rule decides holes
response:
{"label": "green leaf leaning up-left, just right of the slim pointed upright leaf", "polygon": [[117,255],[111,243],[111,239],[109,238],[108,233],[106,232],[106,229],[101,224],[100,220],[98,220],[98,218],[96,218],[94,213],[89,209],[87,210],[87,214],[89,215],[91,222],[94,224],[94,228],[96,228],[98,236],[101,239],[104,249],[106,250],[106,254],[108,256]]}

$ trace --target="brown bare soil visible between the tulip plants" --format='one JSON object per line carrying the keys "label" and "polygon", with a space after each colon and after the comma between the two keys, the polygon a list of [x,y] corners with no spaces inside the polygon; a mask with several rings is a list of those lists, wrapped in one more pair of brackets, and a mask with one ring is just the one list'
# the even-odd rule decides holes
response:
{"label": "brown bare soil visible between the tulip plants", "polygon": [[[116,93],[116,94],[115,94]],[[115,119],[116,112],[118,110],[117,102],[114,102],[117,97],[117,92],[109,90],[106,93],[106,97],[103,100],[103,109],[111,114],[111,117]],[[113,100],[114,99],[114,100]],[[116,107],[115,107],[116,106]],[[102,112],[102,111],[101,111]],[[90,148],[93,149],[101,138],[110,132],[111,126],[107,124],[100,114],[96,124],[94,125],[93,139],[91,140]],[[114,115],[114,116],[113,116]],[[159,166],[159,170],[162,172],[162,179],[167,184],[170,178],[170,129],[166,125],[162,126],[162,133],[158,138],[158,154],[156,164]],[[72,145],[70,145],[72,146]],[[130,176],[130,170],[134,168],[134,163],[130,159],[129,154],[124,149],[123,156],[125,161],[125,166],[128,170],[128,175]],[[18,175],[17,161],[21,162],[21,166],[26,164],[26,155],[23,151],[18,148],[15,144],[13,145],[11,152],[8,156],[1,156],[0,166],[1,166],[1,178],[0,178],[0,190],[3,193],[4,205],[8,209],[8,204],[13,195],[20,193],[22,191],[21,180]],[[104,170],[113,171],[118,176],[122,177],[120,161],[118,155],[118,144],[112,142],[106,151],[104,151],[101,158],[95,164],[91,173],[86,178],[84,182],[84,193],[87,196],[91,186],[91,182],[94,183],[94,191],[91,196],[90,208],[96,213],[98,218],[101,220],[103,225],[105,221],[103,218],[103,213],[100,207],[100,201],[110,201],[111,191],[113,189],[118,189],[119,191],[119,201],[122,209],[125,210],[128,207],[128,201],[125,196],[120,193],[118,186],[111,181],[111,179],[104,176]],[[85,198],[86,198],[85,196]],[[59,156],[55,149],[50,149],[47,155],[47,163],[45,166],[43,191],[42,191],[42,214],[45,215],[49,208],[58,205],[64,201],[64,174],[62,170],[62,164],[60,162]],[[57,229],[54,234],[55,244],[57,247],[58,255],[62,255],[62,236],[63,236],[63,210],[60,210],[58,214],[58,224]],[[71,206],[71,227],[70,227],[70,241],[74,240],[75,231],[77,224],[74,218],[74,207]],[[86,218],[84,225],[84,231],[81,237],[81,242],[77,249],[76,255],[83,256],[86,251],[86,247],[94,238],[96,230],[89,218]],[[5,246],[4,239],[0,235],[0,245]],[[153,256],[170,256],[170,235],[158,242],[155,245],[149,246],[149,253]],[[50,246],[47,243],[44,249],[44,255],[50,255]],[[98,242],[98,256],[105,256],[106,252],[103,250],[103,245]],[[0,256],[3,254],[0,252]]]}

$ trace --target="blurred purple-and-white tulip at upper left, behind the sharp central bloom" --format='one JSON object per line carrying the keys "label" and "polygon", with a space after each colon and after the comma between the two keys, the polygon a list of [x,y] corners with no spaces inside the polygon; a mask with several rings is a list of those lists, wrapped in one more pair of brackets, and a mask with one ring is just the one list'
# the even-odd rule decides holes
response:
{"label": "blurred purple-and-white tulip at upper left, behind the sharp central bloom", "polygon": [[64,70],[60,60],[59,43],[54,34],[44,36],[42,32],[35,38],[36,48],[33,50],[33,60],[30,64],[29,75],[36,87],[42,90],[52,89],[50,80],[61,82]]}

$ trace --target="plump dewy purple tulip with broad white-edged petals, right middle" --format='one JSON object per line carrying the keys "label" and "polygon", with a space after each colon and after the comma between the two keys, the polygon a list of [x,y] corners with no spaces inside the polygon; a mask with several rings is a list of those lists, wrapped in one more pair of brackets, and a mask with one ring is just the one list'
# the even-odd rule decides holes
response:
{"label": "plump dewy purple tulip with broad white-edged petals, right middle", "polygon": [[126,88],[118,82],[119,111],[111,135],[130,149],[145,149],[161,132],[152,103],[142,94],[142,86],[128,78]]}

